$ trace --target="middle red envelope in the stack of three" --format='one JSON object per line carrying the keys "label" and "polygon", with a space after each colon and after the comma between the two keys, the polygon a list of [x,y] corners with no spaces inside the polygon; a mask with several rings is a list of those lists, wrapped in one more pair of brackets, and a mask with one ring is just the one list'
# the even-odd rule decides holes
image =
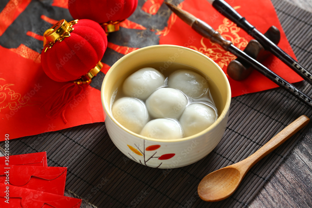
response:
{"label": "middle red envelope in the stack of three", "polygon": [[0,183],[64,195],[67,167],[0,165]]}

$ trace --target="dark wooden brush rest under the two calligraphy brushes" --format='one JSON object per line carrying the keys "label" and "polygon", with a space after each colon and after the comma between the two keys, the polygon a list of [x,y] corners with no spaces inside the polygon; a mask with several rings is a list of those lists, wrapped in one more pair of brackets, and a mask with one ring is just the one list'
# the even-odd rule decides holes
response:
{"label": "dark wooden brush rest under the two calligraphy brushes", "polygon": [[[278,44],[280,41],[280,31],[275,26],[271,26],[264,35],[275,44]],[[244,52],[258,62],[266,60],[271,55],[269,51],[266,51],[263,46],[254,39],[249,41]],[[227,74],[233,80],[237,81],[246,79],[253,70],[254,68],[241,58],[232,60],[227,66]]]}

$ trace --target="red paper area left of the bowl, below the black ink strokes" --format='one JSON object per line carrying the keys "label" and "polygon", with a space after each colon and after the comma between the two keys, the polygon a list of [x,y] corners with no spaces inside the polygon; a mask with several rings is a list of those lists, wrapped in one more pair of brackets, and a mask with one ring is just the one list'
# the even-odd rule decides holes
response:
{"label": "red paper area left of the bowl, below the black ink strokes", "polygon": [[[40,106],[64,83],[51,80],[42,70],[40,54],[25,46],[17,50],[0,46],[0,54],[1,135],[9,134],[13,139],[104,121],[100,91],[89,85],[84,86],[84,92],[67,108],[67,124],[61,116],[48,119],[45,109]],[[3,73],[5,71],[14,73]]]}

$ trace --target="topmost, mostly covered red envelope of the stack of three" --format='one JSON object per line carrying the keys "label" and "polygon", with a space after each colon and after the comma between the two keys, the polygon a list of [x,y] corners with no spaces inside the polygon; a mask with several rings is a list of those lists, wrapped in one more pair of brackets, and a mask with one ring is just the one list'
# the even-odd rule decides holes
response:
{"label": "topmost, mostly covered red envelope of the stack of three", "polygon": [[7,157],[6,154],[4,157],[0,157],[0,165],[6,165],[6,162],[8,162],[9,165],[48,166],[46,161],[46,152],[10,155],[9,157]]}

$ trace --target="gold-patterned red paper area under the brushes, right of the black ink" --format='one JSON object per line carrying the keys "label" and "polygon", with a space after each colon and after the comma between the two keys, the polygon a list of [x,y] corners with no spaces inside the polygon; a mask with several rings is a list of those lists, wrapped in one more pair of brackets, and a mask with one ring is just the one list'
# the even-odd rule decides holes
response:
{"label": "gold-patterned red paper area under the brushes, right of the black ink", "polygon": [[[235,0],[232,1],[230,5],[243,17],[246,17],[246,19],[262,33],[265,33],[272,25],[277,27],[281,34],[278,46],[295,58],[295,54],[287,41],[270,0]],[[216,31],[220,32],[224,38],[232,41],[233,44],[241,50],[243,50],[248,44],[248,41],[252,39],[251,36],[237,27],[236,24],[223,17],[207,0],[186,0],[182,2],[179,7],[209,24]],[[224,51],[219,45],[198,35],[175,14],[172,14],[169,18],[168,27],[159,32],[159,34],[161,35],[159,44],[186,46],[199,51],[214,60],[225,73],[227,72],[227,65],[230,61],[236,59],[236,56],[232,55],[230,52]],[[263,65],[291,83],[303,80],[298,74],[274,56],[270,56],[263,62]],[[257,71],[253,71],[251,75],[243,81],[235,81],[228,75],[227,77],[231,85],[232,97],[278,87],[273,81]]]}

